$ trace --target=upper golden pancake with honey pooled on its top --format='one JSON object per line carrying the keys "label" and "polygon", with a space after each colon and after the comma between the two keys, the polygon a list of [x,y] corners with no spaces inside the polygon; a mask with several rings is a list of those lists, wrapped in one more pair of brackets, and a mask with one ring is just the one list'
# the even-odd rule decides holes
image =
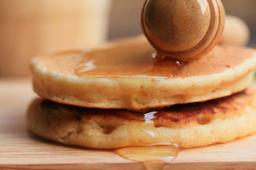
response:
{"label": "upper golden pancake with honey pooled on its top", "polygon": [[34,57],[34,91],[55,102],[147,110],[203,102],[243,91],[252,82],[256,51],[216,46],[188,62],[152,57],[143,36]]}

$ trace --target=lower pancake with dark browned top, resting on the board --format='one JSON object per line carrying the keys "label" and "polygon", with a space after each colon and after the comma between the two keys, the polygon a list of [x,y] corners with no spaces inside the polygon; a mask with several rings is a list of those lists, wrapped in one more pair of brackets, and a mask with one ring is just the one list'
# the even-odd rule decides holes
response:
{"label": "lower pancake with dark browned top, resting on the board", "polygon": [[193,148],[256,132],[256,93],[248,88],[220,99],[144,113],[36,99],[27,112],[27,123],[31,132],[67,145],[112,149],[170,144]]}

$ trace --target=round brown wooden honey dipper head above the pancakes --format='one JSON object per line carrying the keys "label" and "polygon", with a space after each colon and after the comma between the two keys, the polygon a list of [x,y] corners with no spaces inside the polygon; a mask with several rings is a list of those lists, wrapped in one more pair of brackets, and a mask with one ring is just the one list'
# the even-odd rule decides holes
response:
{"label": "round brown wooden honey dipper head above the pancakes", "polygon": [[142,30],[159,56],[188,60],[210,51],[223,30],[220,0],[146,0]]}

